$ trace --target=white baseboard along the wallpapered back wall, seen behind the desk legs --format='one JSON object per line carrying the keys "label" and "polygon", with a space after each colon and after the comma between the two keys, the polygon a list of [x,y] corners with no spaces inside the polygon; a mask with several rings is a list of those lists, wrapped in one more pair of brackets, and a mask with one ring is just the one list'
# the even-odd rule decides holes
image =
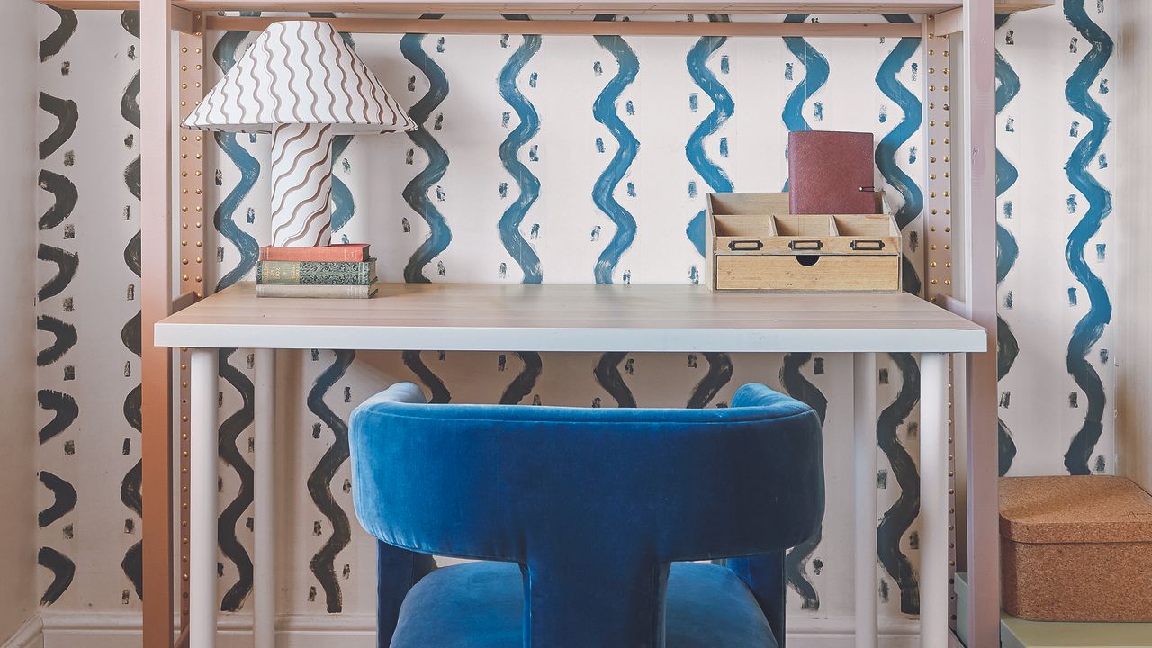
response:
{"label": "white baseboard along the wallpapered back wall, seen behind the desk legs", "polygon": [[[41,612],[43,643],[6,643],[2,648],[124,648],[141,645],[138,612],[73,613]],[[26,625],[26,624],[25,624]],[[40,623],[36,624],[36,633]],[[222,615],[218,648],[252,646],[251,615]],[[14,638],[15,639],[15,638]],[[38,636],[36,636],[38,639]],[[919,621],[882,619],[881,648],[918,646]],[[280,615],[276,617],[276,648],[374,648],[376,616]],[[851,648],[852,617],[795,619],[788,626],[788,648]]]}

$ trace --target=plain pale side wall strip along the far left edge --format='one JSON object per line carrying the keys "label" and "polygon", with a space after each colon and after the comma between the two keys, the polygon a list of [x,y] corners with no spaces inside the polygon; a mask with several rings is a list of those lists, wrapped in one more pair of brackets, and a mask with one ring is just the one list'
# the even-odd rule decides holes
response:
{"label": "plain pale side wall strip along the far left edge", "polygon": [[[0,452],[0,519],[9,526],[0,534],[0,640],[15,633],[32,615],[36,601],[36,549],[31,528],[36,499],[35,333],[30,307],[36,286],[32,255],[32,191],[36,181],[36,8],[21,0],[7,7],[0,24],[0,61],[5,63],[5,91],[0,116],[7,127],[0,148],[0,196],[5,197],[5,235],[0,258],[7,265],[0,281],[0,412],[3,413],[3,451]],[[14,530],[18,529],[18,530]]]}

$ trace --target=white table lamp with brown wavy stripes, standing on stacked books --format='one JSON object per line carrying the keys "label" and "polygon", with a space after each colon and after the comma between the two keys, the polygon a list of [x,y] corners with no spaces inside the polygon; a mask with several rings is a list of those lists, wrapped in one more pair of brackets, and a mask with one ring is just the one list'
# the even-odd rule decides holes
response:
{"label": "white table lamp with brown wavy stripes, standing on stacked books", "polygon": [[416,123],[326,22],[268,25],[184,128],[272,134],[272,244],[332,240],[332,137]]}

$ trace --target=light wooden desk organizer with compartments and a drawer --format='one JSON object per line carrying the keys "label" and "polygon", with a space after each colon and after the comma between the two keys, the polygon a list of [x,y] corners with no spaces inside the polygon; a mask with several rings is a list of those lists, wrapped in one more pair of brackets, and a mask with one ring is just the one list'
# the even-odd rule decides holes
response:
{"label": "light wooden desk organizer with compartments and a drawer", "polygon": [[900,228],[881,213],[788,213],[788,194],[708,194],[704,277],[715,291],[901,291]]}

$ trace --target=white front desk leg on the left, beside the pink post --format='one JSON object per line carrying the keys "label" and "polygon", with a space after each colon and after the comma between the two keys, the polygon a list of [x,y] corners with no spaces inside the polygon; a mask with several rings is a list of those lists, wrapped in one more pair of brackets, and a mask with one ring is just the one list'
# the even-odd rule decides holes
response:
{"label": "white front desk leg on the left, beside the pink post", "polygon": [[191,474],[189,475],[191,529],[189,533],[189,647],[213,648],[217,633],[217,480],[219,431],[217,417],[217,362],[219,351],[192,349],[191,372]]}

